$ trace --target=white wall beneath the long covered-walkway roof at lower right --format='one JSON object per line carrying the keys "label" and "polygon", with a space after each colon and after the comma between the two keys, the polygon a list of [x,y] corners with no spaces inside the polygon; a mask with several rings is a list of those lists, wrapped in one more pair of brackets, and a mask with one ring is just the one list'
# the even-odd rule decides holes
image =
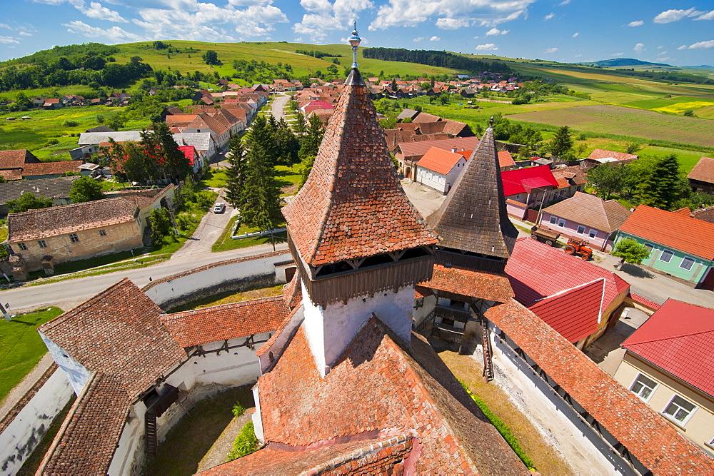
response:
{"label": "white wall beneath the long covered-walkway roof at lower right", "polygon": [[[526,415],[568,461],[575,474],[634,475],[635,472],[615,456],[592,428],[580,420],[575,411],[555,395],[520,356],[511,352],[496,336],[492,327],[493,368],[495,382],[506,391],[511,401]],[[481,359],[477,351],[474,358]]]}

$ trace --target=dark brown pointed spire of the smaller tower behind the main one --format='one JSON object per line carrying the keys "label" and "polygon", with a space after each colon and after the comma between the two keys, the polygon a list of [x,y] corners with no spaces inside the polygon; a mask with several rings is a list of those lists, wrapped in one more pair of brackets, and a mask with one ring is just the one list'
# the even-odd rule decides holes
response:
{"label": "dark brown pointed spire of the smaller tower behind the main one", "polygon": [[508,259],[518,231],[508,219],[493,128],[486,129],[441,208],[428,219],[441,237],[439,248],[452,248]]}

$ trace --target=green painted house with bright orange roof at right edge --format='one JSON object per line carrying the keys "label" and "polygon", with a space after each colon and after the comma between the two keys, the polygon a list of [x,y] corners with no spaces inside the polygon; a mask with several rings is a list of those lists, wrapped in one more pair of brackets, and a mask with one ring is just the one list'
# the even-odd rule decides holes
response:
{"label": "green painted house with bright orange roof at right edge", "polygon": [[640,205],[620,226],[615,245],[633,238],[650,248],[642,264],[714,290],[714,223]]}

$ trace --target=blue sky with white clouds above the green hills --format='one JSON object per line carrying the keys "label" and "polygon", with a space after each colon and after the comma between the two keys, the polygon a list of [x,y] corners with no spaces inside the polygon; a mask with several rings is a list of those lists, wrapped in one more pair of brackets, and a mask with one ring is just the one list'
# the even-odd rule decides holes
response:
{"label": "blue sky with white clouds above the green hills", "polygon": [[[688,0],[685,0],[687,2]],[[345,41],[554,61],[714,64],[714,2],[695,0],[1,0],[0,60],[144,40]]]}

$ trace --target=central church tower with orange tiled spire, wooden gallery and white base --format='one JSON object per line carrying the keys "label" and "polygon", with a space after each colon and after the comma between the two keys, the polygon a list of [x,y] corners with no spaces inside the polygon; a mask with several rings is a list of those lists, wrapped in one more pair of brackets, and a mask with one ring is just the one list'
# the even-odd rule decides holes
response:
{"label": "central church tower with orange tiled spire, wooden gallery and white base", "polygon": [[357,66],[303,188],[283,208],[303,288],[304,323],[321,375],[376,315],[407,345],[414,285],[431,278],[438,238],[406,198]]}

